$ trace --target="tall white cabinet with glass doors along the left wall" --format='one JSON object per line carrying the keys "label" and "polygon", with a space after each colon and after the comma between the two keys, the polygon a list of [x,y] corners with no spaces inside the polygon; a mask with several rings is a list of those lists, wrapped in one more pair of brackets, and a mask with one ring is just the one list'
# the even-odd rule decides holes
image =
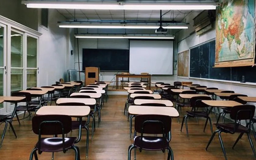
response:
{"label": "tall white cabinet with glass doors along the left wall", "polygon": [[[0,16],[0,96],[37,87],[40,33]],[[13,104],[0,103],[0,114]]]}

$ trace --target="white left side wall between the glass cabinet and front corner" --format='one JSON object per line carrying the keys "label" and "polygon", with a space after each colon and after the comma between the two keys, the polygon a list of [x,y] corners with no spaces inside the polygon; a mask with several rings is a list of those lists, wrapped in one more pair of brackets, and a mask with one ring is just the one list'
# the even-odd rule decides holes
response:
{"label": "white left side wall between the glass cabinet and front corner", "polygon": [[[65,18],[56,9],[49,9],[48,20],[48,29],[41,26],[38,27],[38,31],[42,34],[39,41],[38,86],[55,84],[55,81],[59,81],[60,78],[66,78],[68,69],[68,29],[57,26],[57,22],[65,21]],[[70,61],[72,60],[70,59]]]}

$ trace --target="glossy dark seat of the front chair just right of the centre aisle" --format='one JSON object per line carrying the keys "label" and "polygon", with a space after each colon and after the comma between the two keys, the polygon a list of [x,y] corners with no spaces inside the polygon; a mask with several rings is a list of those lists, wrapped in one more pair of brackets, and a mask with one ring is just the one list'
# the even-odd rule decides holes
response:
{"label": "glossy dark seat of the front chair just right of the centre aisle", "polygon": [[167,142],[166,138],[163,138],[163,137],[143,136],[141,141],[140,136],[135,136],[133,142],[134,142],[133,144],[136,147],[142,148],[144,150],[149,150],[149,151],[158,151],[158,150],[165,149],[169,146],[169,143]]}

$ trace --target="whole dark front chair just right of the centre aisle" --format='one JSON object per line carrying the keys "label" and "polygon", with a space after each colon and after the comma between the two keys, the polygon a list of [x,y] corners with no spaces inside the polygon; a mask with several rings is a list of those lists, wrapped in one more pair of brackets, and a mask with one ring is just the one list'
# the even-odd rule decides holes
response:
{"label": "whole dark front chair just right of the centre aisle", "polygon": [[[173,160],[173,152],[169,146],[171,132],[172,118],[163,115],[137,115],[134,123],[134,138],[133,144],[128,148],[128,160],[131,160],[131,151],[134,149],[134,159],[136,159],[136,148],[139,148],[141,152],[143,150],[148,151],[162,151],[168,150],[167,160]],[[140,136],[136,134],[140,133]],[[144,134],[151,134],[151,136],[145,136]],[[153,136],[156,134],[162,135],[162,137]]]}

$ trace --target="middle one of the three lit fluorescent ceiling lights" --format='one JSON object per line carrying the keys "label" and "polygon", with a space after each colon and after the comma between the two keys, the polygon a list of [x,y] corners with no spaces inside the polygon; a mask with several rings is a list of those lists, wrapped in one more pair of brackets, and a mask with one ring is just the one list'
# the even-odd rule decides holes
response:
{"label": "middle one of the three lit fluorescent ceiling lights", "polygon": [[[109,29],[158,29],[158,26],[151,25],[90,25],[90,24],[59,24],[60,28],[109,28]],[[170,25],[163,27],[164,29],[188,29],[186,25]]]}

